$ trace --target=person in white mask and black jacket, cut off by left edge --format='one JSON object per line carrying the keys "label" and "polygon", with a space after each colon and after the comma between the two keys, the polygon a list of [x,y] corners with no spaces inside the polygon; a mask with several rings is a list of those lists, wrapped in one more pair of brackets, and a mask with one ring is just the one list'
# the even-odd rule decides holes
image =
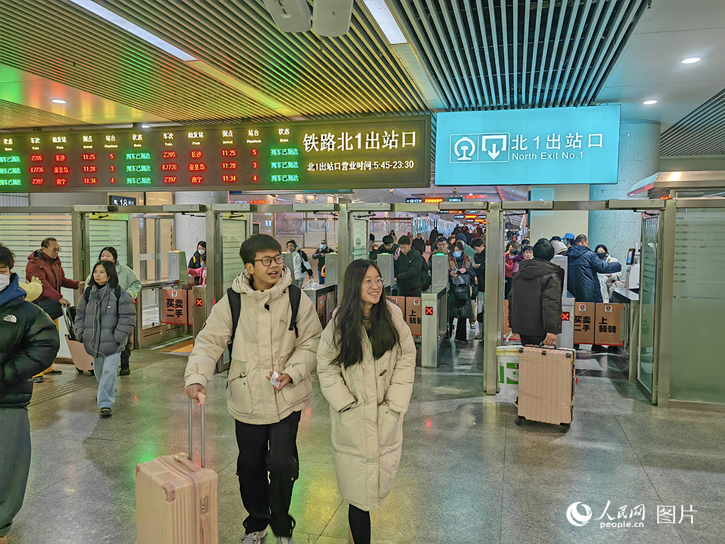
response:
{"label": "person in white mask and black jacket, cut off by left edge", "polygon": [[7,542],[28,483],[33,376],[51,366],[60,347],[48,314],[25,302],[13,264],[12,252],[0,244],[0,542]]}

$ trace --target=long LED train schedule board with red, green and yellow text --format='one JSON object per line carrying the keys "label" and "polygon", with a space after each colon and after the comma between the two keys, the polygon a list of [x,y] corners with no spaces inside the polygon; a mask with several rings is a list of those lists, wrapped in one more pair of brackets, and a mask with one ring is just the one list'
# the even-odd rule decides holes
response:
{"label": "long LED train schedule board with red, green and yellow text", "polygon": [[0,192],[428,186],[427,115],[1,133]]}

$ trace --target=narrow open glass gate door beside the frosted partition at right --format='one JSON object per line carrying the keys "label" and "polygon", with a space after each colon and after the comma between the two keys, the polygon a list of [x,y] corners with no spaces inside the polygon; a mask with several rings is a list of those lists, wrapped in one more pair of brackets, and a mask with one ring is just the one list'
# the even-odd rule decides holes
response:
{"label": "narrow open glass gate door beside the frosted partition at right", "polygon": [[642,221],[642,261],[639,286],[639,361],[637,381],[652,400],[655,364],[655,300],[657,298],[657,257],[660,217]]}

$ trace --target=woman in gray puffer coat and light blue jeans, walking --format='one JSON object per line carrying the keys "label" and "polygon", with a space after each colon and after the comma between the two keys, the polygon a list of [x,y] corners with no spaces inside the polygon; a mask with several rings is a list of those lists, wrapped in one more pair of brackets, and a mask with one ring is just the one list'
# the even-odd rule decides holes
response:
{"label": "woman in gray puffer coat and light blue jeans, walking", "polygon": [[115,265],[107,260],[96,263],[91,285],[83,292],[75,315],[75,335],[94,358],[101,417],[112,414],[111,407],[116,402],[116,371],[123,347],[133,332],[135,318],[133,300],[118,287]]}

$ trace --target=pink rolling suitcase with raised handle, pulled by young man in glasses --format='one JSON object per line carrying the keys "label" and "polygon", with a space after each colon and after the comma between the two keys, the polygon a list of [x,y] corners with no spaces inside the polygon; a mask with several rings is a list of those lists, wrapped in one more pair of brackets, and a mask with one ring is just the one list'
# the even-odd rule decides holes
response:
{"label": "pink rolling suitcase with raised handle, pulled by young man in glasses", "polygon": [[188,456],[163,456],[136,466],[136,531],[138,544],[218,544],[219,478],[205,468],[204,395],[202,403],[202,466],[192,458],[188,400]]}

